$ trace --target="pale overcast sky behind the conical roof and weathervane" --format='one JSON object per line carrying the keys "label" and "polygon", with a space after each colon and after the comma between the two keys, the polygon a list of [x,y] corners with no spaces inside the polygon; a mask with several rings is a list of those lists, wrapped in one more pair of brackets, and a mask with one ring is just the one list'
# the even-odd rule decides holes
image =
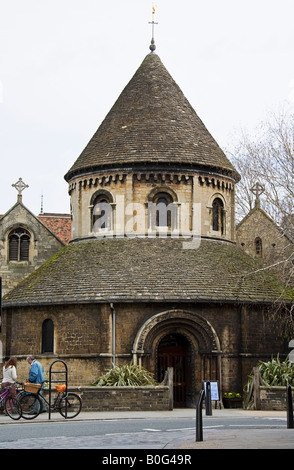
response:
{"label": "pale overcast sky behind the conical roof and weathervane", "polygon": [[[156,53],[224,151],[286,103],[293,0],[156,0]],[[29,185],[69,213],[65,173],[150,52],[150,0],[0,0],[0,214]]]}

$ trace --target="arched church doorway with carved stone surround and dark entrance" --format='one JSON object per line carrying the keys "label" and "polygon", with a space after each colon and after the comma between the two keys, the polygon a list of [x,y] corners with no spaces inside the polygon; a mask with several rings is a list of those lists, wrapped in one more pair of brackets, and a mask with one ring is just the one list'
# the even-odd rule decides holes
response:
{"label": "arched church doorway with carved stone surround and dark entrance", "polygon": [[[185,385],[175,390],[175,407],[195,406],[203,380],[221,384],[219,338],[209,321],[196,312],[174,309],[148,318],[136,334],[132,353],[134,364],[154,372],[159,381],[167,364],[174,369],[177,366],[174,382]],[[185,400],[180,387],[186,393]]]}

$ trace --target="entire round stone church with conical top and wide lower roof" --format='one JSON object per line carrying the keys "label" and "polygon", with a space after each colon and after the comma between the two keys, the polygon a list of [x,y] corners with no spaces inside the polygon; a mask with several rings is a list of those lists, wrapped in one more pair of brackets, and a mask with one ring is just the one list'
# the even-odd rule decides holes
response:
{"label": "entire round stone church with conical top and wide lower roof", "polygon": [[4,297],[5,355],[62,359],[79,385],[126,361],[159,382],[173,367],[174,406],[203,380],[240,392],[285,352],[271,315],[290,294],[236,246],[239,179],[148,54],[65,175],[71,242]]}

